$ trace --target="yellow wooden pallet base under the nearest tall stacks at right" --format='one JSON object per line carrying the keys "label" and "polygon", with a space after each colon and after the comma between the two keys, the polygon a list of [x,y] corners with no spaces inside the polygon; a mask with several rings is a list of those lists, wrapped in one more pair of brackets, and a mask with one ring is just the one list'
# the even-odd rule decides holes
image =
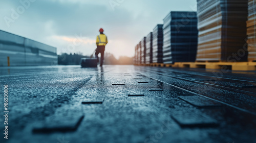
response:
{"label": "yellow wooden pallet base under the nearest tall stacks at right", "polygon": [[231,69],[231,70],[256,70],[256,62],[177,62],[174,67],[206,68],[206,69]]}

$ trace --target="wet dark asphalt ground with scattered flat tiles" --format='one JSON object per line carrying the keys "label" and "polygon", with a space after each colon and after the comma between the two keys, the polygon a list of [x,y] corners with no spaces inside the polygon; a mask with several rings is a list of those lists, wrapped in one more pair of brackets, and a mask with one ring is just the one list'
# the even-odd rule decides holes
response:
{"label": "wet dark asphalt ground with scattered flat tiles", "polygon": [[0,142],[256,142],[255,71],[29,66],[0,77]]}

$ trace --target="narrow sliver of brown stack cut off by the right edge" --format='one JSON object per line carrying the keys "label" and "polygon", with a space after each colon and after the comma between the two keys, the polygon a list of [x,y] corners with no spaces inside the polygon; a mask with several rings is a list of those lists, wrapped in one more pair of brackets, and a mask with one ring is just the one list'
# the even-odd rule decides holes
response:
{"label": "narrow sliver of brown stack cut off by the right edge", "polygon": [[256,1],[248,1],[248,61],[256,61]]}

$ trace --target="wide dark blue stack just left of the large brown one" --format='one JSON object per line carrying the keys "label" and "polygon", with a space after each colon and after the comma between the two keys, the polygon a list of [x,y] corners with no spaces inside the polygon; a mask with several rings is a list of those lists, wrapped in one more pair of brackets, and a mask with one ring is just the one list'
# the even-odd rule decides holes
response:
{"label": "wide dark blue stack just left of the large brown one", "polygon": [[170,12],[163,24],[163,63],[194,62],[198,30],[196,12]]}

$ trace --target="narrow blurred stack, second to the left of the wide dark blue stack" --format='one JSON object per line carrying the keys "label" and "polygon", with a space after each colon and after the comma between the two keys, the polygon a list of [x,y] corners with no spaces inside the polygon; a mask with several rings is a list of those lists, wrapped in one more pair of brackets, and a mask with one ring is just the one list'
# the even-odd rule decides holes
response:
{"label": "narrow blurred stack, second to the left of the wide dark blue stack", "polygon": [[146,37],[146,64],[152,63],[152,32]]}

